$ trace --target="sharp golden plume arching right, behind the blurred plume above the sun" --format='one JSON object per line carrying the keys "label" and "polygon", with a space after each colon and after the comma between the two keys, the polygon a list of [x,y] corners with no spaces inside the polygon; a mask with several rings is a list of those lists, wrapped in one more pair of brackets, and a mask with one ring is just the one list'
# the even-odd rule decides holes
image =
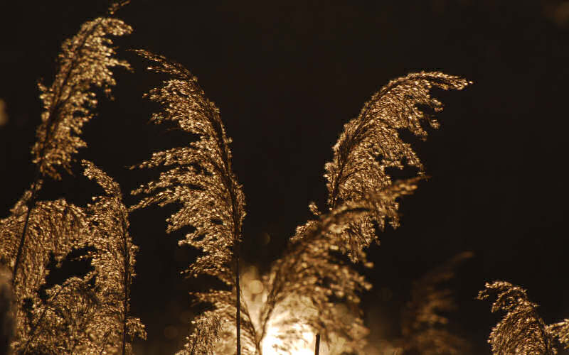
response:
{"label": "sharp golden plume arching right, behind the blurred plume above the sun", "polygon": [[[342,202],[363,200],[366,195],[381,192],[392,183],[388,168],[403,169],[407,165],[424,175],[420,159],[410,144],[400,138],[398,130],[407,129],[425,138],[423,122],[432,128],[438,128],[439,123],[422,107],[442,111],[442,103],[430,97],[430,89],[463,89],[468,84],[467,80],[442,72],[419,72],[392,80],[373,94],[359,116],[344,125],[332,148],[334,158],[324,166],[328,207],[333,209]],[[381,210],[372,209],[339,236],[339,245],[354,261],[361,258],[363,248],[377,240],[375,224],[383,229],[388,217],[390,224],[398,225],[398,203],[382,203]]]}

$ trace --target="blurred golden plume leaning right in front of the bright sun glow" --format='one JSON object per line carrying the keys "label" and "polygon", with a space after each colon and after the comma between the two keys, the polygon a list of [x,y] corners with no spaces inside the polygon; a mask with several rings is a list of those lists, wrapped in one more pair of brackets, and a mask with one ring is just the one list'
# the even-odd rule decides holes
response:
{"label": "blurred golden plume leaning right in front of the bright sun glow", "polygon": [[260,342],[257,353],[272,342],[278,354],[294,354],[312,342],[306,334],[319,334],[317,342],[321,338],[338,354],[363,350],[368,330],[359,295],[371,284],[341,256],[336,234],[372,209],[383,209],[382,201],[413,192],[414,182],[396,182],[379,194],[345,202],[297,227],[282,258],[263,278],[267,292],[258,316],[252,317]]}

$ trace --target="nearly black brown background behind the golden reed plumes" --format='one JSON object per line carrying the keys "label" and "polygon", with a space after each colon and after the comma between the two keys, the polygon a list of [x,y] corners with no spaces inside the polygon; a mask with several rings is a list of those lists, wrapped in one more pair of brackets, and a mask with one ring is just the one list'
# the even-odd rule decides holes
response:
{"label": "nearly black brown background behind the golden reed plumes", "polygon": [[[307,204],[326,201],[324,163],[343,124],[388,80],[420,70],[461,75],[463,92],[435,92],[442,127],[412,141],[432,178],[401,204],[402,226],[381,234],[363,295],[370,342],[399,335],[400,308],[412,280],[461,251],[474,258],[451,283],[459,308],[452,329],[489,354],[499,317],[474,300],[484,282],[528,288],[548,323],[569,317],[565,183],[569,80],[569,1],[132,1],[118,16],[134,27],[116,41],[135,72],[117,70],[115,101],[102,98],[85,126],[88,158],[128,194],[151,173],[127,167],[184,139],[147,124],[156,109],[142,93],[156,85],[125,48],[146,48],[181,62],[220,107],[233,137],[233,167],[248,216],[246,260],[263,270]],[[29,150],[40,121],[36,81],[53,80],[60,44],[105,1],[26,1],[0,6],[0,216],[33,178]],[[1,105],[0,105],[1,106]],[[6,118],[7,116],[7,118]],[[6,121],[7,119],[7,121]],[[80,170],[48,182],[42,198],[85,204],[99,190]],[[140,247],[132,314],[147,324],[138,354],[172,354],[193,312],[179,275],[195,253],[166,235],[174,209],[131,215]],[[269,236],[269,238],[267,238]],[[166,330],[166,331],[165,331]]]}

